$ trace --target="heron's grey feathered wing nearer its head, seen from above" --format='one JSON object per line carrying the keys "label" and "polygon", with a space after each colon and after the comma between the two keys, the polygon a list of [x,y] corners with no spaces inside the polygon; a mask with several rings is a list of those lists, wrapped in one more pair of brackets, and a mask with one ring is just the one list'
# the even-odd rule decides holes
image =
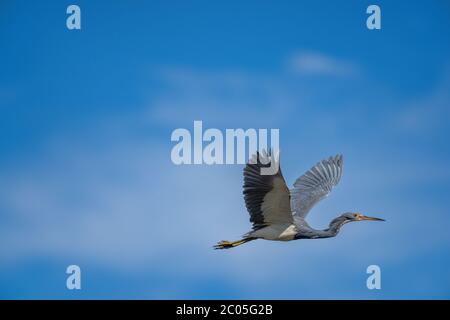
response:
{"label": "heron's grey feathered wing nearer its head, seen from above", "polygon": [[295,217],[305,218],[317,202],[328,196],[341,179],[342,162],[342,155],[322,160],[295,181],[291,190]]}

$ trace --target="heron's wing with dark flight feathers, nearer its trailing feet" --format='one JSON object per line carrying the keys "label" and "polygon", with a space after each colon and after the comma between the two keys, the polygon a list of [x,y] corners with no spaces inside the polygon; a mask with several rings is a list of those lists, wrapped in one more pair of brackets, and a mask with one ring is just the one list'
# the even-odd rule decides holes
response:
{"label": "heron's wing with dark flight feathers, nearer its trailing feet", "polygon": [[281,169],[273,175],[261,175],[261,168],[278,161],[272,152],[253,155],[244,168],[244,199],[253,228],[276,223],[292,223],[289,189]]}

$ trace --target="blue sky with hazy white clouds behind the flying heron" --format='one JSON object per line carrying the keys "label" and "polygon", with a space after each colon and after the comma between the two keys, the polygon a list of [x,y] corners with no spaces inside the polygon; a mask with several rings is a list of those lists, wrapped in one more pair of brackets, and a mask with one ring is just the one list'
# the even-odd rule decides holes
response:
{"label": "blue sky with hazy white clouds behind the flying heron", "polygon": [[[450,6],[376,1],[0,4],[0,298],[449,298]],[[250,224],[242,166],[175,166],[171,132],[279,128],[335,239],[214,251]],[[82,290],[65,268],[82,270]],[[382,289],[366,288],[368,265]]]}

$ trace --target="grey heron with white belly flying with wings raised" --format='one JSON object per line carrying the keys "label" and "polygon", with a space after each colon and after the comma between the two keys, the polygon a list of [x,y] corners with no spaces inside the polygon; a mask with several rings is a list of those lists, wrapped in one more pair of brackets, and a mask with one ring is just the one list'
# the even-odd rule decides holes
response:
{"label": "grey heron with white belly flying with wings raised", "polygon": [[317,230],[305,220],[316,203],[327,197],[342,176],[343,157],[338,154],[319,161],[289,190],[281,173],[262,175],[261,168],[278,161],[273,151],[256,152],[244,168],[243,194],[253,228],[237,241],[220,241],[215,249],[230,249],[256,239],[290,241],[331,238],[341,227],[355,221],[385,221],[359,212],[345,212],[331,220],[328,228]]}

